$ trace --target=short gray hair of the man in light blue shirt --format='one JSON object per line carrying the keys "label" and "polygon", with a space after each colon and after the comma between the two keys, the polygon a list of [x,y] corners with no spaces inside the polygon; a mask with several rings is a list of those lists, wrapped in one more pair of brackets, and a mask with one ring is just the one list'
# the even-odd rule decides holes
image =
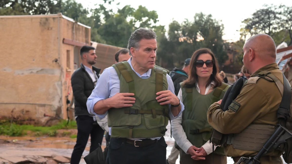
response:
{"label": "short gray hair of the man in light blue shirt", "polygon": [[[142,39],[156,39],[156,37],[156,33],[152,29],[140,27],[131,34],[128,41],[128,49],[130,51],[131,47],[139,48],[139,41]],[[132,55],[131,51],[129,54]]]}

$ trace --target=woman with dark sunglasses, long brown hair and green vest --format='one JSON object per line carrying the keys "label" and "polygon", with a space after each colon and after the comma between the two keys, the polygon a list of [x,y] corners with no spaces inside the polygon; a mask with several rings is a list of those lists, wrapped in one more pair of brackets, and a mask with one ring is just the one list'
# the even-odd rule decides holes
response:
{"label": "woman with dark sunglasses, long brown hair and green vest", "polygon": [[183,113],[171,121],[172,135],[180,150],[183,164],[226,164],[220,147],[209,142],[211,126],[207,111],[211,104],[223,98],[229,86],[217,76],[218,62],[213,52],[202,48],[194,52],[188,78],[181,83],[178,98],[185,105]]}

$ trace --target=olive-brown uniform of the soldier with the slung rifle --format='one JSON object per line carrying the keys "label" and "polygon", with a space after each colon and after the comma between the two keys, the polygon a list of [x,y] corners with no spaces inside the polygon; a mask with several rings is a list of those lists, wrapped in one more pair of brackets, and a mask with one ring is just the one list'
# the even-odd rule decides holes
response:
{"label": "olive-brown uniform of the soldier with the slung rifle", "polygon": [[[227,111],[221,110],[217,102],[210,106],[207,117],[209,124],[214,129],[223,134],[240,134],[251,124],[273,126],[277,124],[277,110],[282,96],[274,82],[255,77],[261,71],[271,72],[283,84],[283,75],[276,63],[260,68],[244,84]],[[236,161],[238,160],[237,157],[250,157],[257,154],[257,151],[236,149],[234,144],[227,144],[224,152],[226,156],[235,157]],[[262,164],[280,164],[282,163],[281,154],[282,152],[274,150],[266,153],[260,161]]]}

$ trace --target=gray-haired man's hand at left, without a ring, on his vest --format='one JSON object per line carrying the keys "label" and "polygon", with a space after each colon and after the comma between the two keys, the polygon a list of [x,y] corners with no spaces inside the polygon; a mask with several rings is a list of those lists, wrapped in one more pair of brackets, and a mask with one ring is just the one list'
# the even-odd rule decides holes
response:
{"label": "gray-haired man's hand at left, without a ring, on his vest", "polygon": [[117,93],[110,98],[112,108],[132,107],[135,103],[134,93]]}

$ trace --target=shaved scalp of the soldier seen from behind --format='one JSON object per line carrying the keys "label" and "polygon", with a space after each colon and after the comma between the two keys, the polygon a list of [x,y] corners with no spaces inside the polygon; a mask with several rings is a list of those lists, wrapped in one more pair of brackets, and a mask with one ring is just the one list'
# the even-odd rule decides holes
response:
{"label": "shaved scalp of the soldier seen from behind", "polygon": [[250,37],[245,45],[252,48],[260,58],[272,57],[276,59],[276,45],[271,36],[267,34],[257,34]]}

